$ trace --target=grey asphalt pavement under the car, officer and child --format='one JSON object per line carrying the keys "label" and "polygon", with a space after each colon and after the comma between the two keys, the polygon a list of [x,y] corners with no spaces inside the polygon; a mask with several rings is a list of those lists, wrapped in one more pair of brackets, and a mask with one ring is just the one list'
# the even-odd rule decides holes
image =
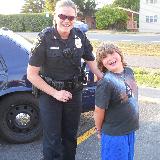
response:
{"label": "grey asphalt pavement under the car, officer and child", "polygon": [[[136,133],[135,160],[160,160],[160,104],[141,102],[140,129]],[[93,127],[92,112],[81,117],[79,135]],[[40,160],[42,141],[29,144],[7,144],[0,140],[0,160]],[[96,135],[78,145],[76,160],[100,160]]]}

